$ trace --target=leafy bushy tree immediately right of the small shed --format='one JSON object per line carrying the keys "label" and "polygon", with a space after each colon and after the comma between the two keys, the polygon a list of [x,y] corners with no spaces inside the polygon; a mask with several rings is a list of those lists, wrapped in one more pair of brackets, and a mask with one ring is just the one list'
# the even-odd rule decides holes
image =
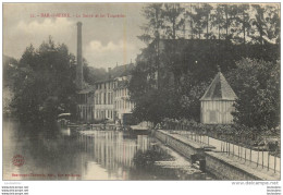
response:
{"label": "leafy bushy tree immediately right of the small shed", "polygon": [[237,95],[235,122],[258,130],[280,124],[280,62],[243,59],[227,80]]}

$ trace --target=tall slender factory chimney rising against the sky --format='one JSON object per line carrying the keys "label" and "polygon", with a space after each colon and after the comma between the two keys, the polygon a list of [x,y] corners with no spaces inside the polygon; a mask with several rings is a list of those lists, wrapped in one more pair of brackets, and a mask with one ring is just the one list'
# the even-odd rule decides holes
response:
{"label": "tall slender factory chimney rising against the sky", "polygon": [[83,89],[82,22],[77,23],[76,87]]}

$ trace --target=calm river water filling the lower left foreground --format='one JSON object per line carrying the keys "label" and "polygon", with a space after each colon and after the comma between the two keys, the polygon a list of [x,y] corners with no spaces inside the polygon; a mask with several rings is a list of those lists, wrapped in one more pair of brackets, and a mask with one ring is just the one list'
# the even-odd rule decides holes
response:
{"label": "calm river water filling the lower left foreground", "polygon": [[211,180],[149,135],[51,132],[4,119],[3,180]]}

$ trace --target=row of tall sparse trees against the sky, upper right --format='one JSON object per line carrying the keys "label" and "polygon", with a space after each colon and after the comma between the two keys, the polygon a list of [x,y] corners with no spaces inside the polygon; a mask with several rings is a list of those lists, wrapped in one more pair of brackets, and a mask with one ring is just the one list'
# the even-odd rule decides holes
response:
{"label": "row of tall sparse trees against the sky, upper right", "polygon": [[151,3],[139,36],[149,44],[165,39],[229,39],[248,44],[280,42],[280,5],[268,3]]}

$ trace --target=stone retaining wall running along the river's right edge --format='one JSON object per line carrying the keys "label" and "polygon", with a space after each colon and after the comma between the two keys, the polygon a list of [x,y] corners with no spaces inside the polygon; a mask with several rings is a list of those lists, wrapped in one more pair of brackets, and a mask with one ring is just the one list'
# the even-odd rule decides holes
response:
{"label": "stone retaining wall running along the river's right edge", "polygon": [[204,145],[189,142],[176,134],[157,130],[153,135],[188,159],[192,159],[192,157],[197,160],[205,159],[206,170],[219,180],[275,180],[260,171],[253,170],[246,164],[229,159],[220,153],[205,151]]}

